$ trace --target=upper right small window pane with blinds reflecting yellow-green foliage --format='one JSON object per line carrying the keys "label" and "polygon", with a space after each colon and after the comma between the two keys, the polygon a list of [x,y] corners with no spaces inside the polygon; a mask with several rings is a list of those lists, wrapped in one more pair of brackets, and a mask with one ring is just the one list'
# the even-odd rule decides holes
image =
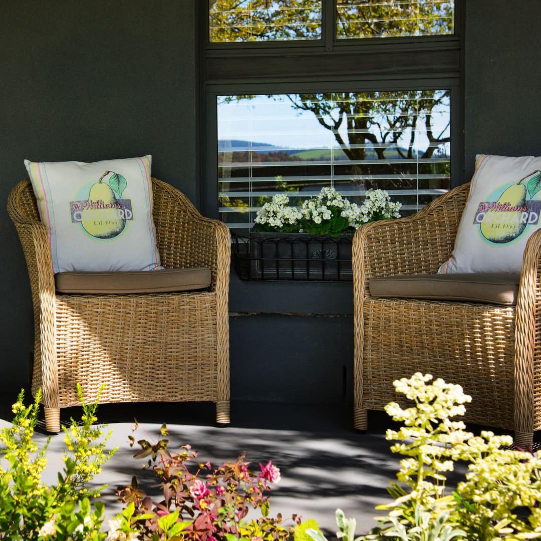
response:
{"label": "upper right small window pane with blinds reflecting yellow-green foliage", "polygon": [[454,33],[454,0],[337,0],[337,38]]}

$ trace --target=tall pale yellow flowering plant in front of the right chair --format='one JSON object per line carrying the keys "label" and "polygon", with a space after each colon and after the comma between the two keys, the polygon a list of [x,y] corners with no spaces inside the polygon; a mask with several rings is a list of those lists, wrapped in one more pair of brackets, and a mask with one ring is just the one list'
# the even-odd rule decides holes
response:
{"label": "tall pale yellow flowering plant in front of the right chair", "polygon": [[[411,407],[387,404],[386,412],[401,421],[398,431],[387,430],[388,440],[398,440],[391,450],[403,455],[398,483],[391,483],[388,511],[377,517],[379,525],[355,541],[489,541],[541,539],[541,451],[511,448],[510,436],[482,431],[474,436],[462,421],[471,397],[460,385],[433,380],[416,373],[394,381],[397,392],[413,401]],[[467,464],[464,480],[456,490],[446,487],[446,474],[458,463]],[[343,513],[337,511],[337,522]],[[342,539],[354,539],[340,527]],[[326,541],[321,532],[308,530],[315,541]]]}

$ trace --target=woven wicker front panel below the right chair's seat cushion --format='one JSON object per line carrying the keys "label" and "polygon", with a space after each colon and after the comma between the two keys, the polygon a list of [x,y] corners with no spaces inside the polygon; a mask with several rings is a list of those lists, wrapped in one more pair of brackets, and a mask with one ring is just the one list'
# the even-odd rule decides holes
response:
{"label": "woven wicker front panel below the right chair's seat cushion", "polygon": [[513,308],[366,298],[363,407],[381,410],[395,379],[431,373],[474,397],[467,421],[512,427],[513,334]]}

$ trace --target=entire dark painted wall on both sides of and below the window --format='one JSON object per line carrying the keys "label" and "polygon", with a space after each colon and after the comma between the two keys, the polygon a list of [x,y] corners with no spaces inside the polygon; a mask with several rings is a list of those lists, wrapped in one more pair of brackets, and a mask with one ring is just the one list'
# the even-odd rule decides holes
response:
{"label": "entire dark painted wall on both sides of and below the window", "polygon": [[[199,204],[195,2],[0,0],[2,208],[25,176],[25,158],[147,153],[155,176]],[[469,180],[476,153],[541,154],[537,0],[467,0],[465,19],[466,174],[459,182]],[[0,389],[15,394],[28,384],[30,291],[5,212],[0,233]],[[351,286],[233,277],[230,307],[263,312],[230,320],[233,398],[351,401]]]}

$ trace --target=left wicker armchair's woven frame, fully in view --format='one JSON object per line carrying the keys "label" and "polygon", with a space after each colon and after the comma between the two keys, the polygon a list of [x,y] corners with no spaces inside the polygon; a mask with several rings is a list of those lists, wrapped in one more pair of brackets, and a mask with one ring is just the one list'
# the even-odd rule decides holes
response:
{"label": "left wicker armchair's woven frame, fully in view", "polygon": [[72,295],[55,292],[45,226],[30,181],[11,191],[8,212],[27,261],[34,303],[32,393],[42,388],[47,430],[60,408],[88,401],[214,401],[229,423],[229,230],[179,190],[153,179],[154,222],[168,268],[206,267],[209,291]]}

